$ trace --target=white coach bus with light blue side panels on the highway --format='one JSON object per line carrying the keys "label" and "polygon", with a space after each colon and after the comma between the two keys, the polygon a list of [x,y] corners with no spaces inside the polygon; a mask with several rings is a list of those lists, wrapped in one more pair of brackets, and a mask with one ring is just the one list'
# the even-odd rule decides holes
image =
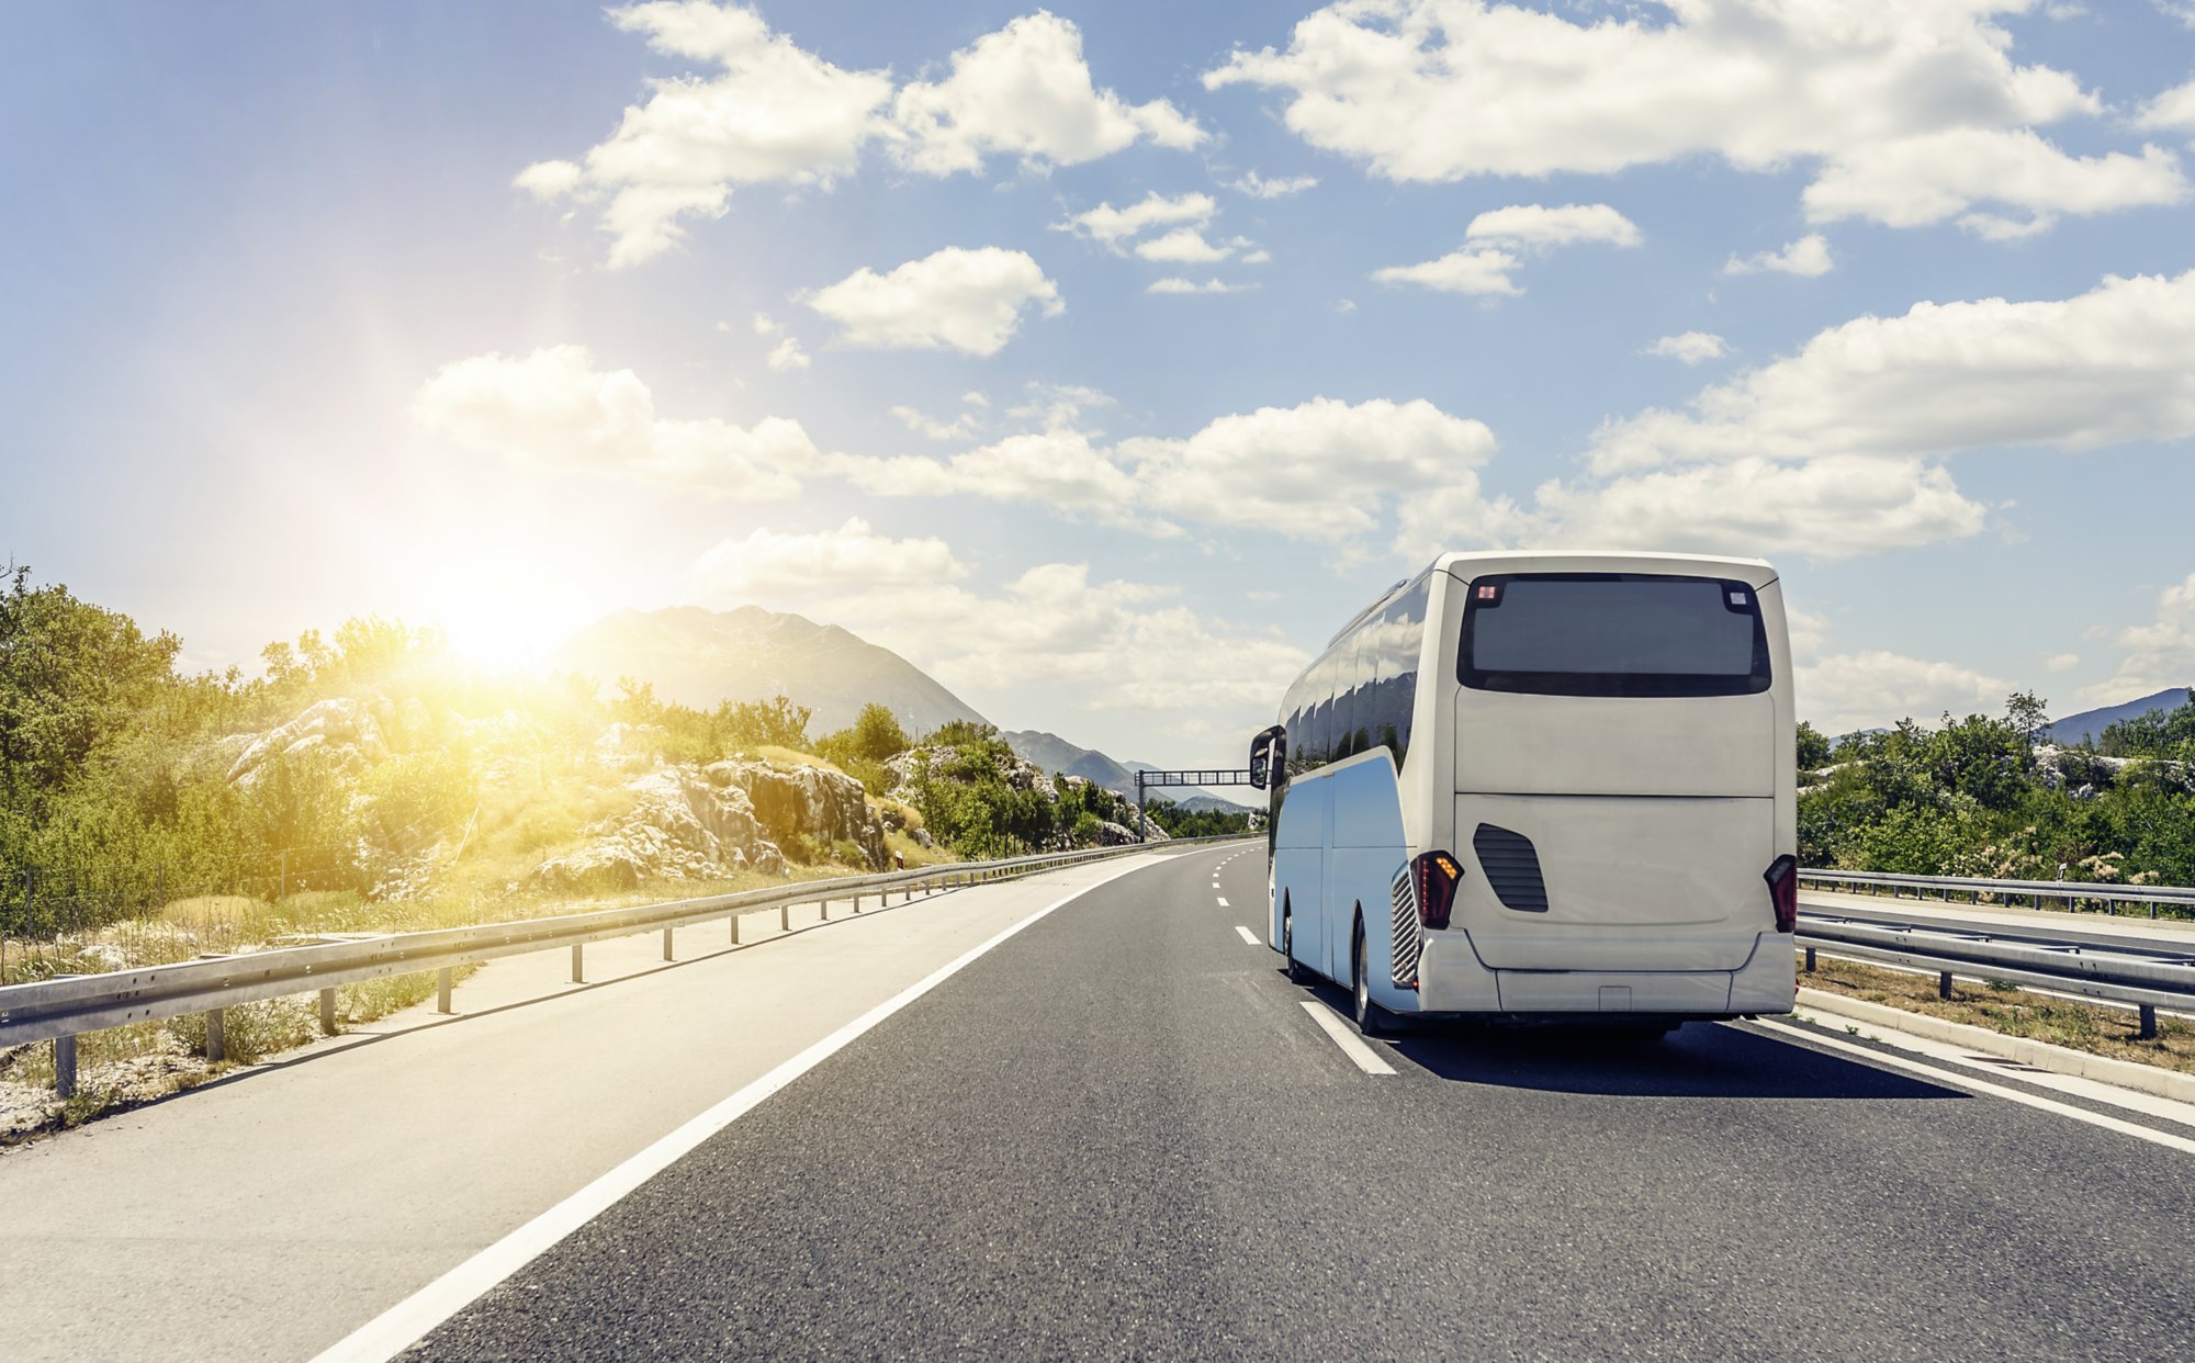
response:
{"label": "white coach bus with light blue side panels on the highway", "polygon": [[1267,939],[1367,1032],[1791,1012],[1796,762],[1769,564],[1447,553],[1251,744]]}

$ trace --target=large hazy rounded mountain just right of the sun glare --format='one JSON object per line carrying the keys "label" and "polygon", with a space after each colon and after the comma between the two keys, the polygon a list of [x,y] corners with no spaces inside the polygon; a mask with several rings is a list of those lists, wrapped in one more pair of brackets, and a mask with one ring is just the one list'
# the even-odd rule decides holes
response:
{"label": "large hazy rounded mountain just right of the sun glare", "polygon": [[814,711],[810,733],[845,729],[871,700],[889,707],[909,733],[950,720],[983,722],[975,707],[889,647],[759,606],[619,610],[573,634],[553,665],[606,683],[619,676],[654,683],[665,700],[698,709],[790,696]]}

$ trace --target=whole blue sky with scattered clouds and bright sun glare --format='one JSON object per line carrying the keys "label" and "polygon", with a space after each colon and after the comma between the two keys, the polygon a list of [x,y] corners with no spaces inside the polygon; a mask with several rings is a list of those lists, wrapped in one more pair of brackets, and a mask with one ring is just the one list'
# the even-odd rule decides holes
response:
{"label": "whole blue sky with scattered clouds and bright sun glare", "polygon": [[1835,729],[2186,685],[2195,9],[1837,13],[22,11],[0,544],[204,665],[755,601],[1159,762],[1440,547],[1771,557]]}

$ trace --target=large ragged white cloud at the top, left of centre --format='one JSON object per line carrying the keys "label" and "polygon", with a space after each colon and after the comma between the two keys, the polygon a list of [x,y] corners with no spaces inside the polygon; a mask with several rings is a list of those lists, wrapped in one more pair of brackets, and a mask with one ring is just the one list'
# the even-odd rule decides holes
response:
{"label": "large ragged white cloud at the top, left of centre", "polygon": [[582,160],[518,173],[516,187],[538,200],[599,204],[612,270],[669,250],[687,222],[722,215],[740,187],[830,184],[871,143],[918,173],[950,176],[992,156],[1078,165],[1139,140],[1205,140],[1172,103],[1100,88],[1080,29],[1045,11],[953,53],[946,79],[898,88],[887,70],[845,70],[770,33],[742,4],[654,0],[608,18],[663,55],[716,68],[650,81]]}

